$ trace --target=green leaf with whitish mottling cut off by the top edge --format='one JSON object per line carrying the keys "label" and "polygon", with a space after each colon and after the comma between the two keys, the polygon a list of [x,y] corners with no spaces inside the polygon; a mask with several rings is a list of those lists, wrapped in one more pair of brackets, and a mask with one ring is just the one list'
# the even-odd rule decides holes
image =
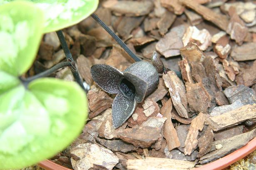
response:
{"label": "green leaf with whitish mottling cut off by the top edge", "polygon": [[[7,3],[12,0],[3,0]],[[99,0],[29,0],[45,14],[44,32],[53,32],[77,24],[89,17],[98,6]],[[1,2],[0,2],[1,3]]]}

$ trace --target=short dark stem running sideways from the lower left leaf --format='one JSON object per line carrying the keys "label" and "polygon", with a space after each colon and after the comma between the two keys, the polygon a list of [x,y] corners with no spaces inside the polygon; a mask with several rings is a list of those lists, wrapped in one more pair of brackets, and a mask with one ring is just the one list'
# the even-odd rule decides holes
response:
{"label": "short dark stem running sideways from the lower left leaf", "polygon": [[48,70],[45,70],[42,73],[39,73],[37,75],[34,75],[34,76],[29,77],[27,79],[24,79],[23,81],[26,82],[26,83],[30,83],[32,80],[35,80],[37,78],[46,77],[46,76],[50,75],[51,73],[54,73],[56,70],[58,70],[58,69],[60,69],[62,67],[65,67],[65,66],[72,66],[72,62],[64,61],[64,62],[58,63],[55,66],[49,68]]}

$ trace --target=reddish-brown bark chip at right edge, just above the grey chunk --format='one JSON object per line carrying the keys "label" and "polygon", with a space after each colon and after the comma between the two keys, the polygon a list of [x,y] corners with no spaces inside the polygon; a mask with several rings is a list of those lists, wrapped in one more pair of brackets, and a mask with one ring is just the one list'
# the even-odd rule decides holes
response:
{"label": "reddish-brown bark chip at right edge, just above the grey chunk", "polygon": [[256,61],[250,68],[247,68],[236,76],[236,83],[239,85],[243,84],[247,87],[256,83]]}

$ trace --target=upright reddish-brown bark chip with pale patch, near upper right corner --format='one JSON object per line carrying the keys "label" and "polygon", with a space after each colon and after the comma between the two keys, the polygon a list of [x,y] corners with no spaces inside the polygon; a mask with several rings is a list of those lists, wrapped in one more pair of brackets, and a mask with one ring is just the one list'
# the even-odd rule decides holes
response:
{"label": "upright reddish-brown bark chip with pale patch, near upper right corner", "polygon": [[243,44],[243,41],[248,33],[248,28],[245,26],[242,19],[236,13],[234,7],[229,8],[229,16],[231,17],[226,32],[234,39],[237,44]]}

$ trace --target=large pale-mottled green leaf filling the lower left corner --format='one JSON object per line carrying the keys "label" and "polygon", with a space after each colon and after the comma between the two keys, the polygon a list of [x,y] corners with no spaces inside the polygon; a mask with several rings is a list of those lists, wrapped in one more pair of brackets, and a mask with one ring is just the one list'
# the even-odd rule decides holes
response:
{"label": "large pale-mottled green leaf filling the lower left corner", "polygon": [[0,95],[0,169],[40,162],[65,149],[87,117],[85,92],[74,82],[41,78]]}

